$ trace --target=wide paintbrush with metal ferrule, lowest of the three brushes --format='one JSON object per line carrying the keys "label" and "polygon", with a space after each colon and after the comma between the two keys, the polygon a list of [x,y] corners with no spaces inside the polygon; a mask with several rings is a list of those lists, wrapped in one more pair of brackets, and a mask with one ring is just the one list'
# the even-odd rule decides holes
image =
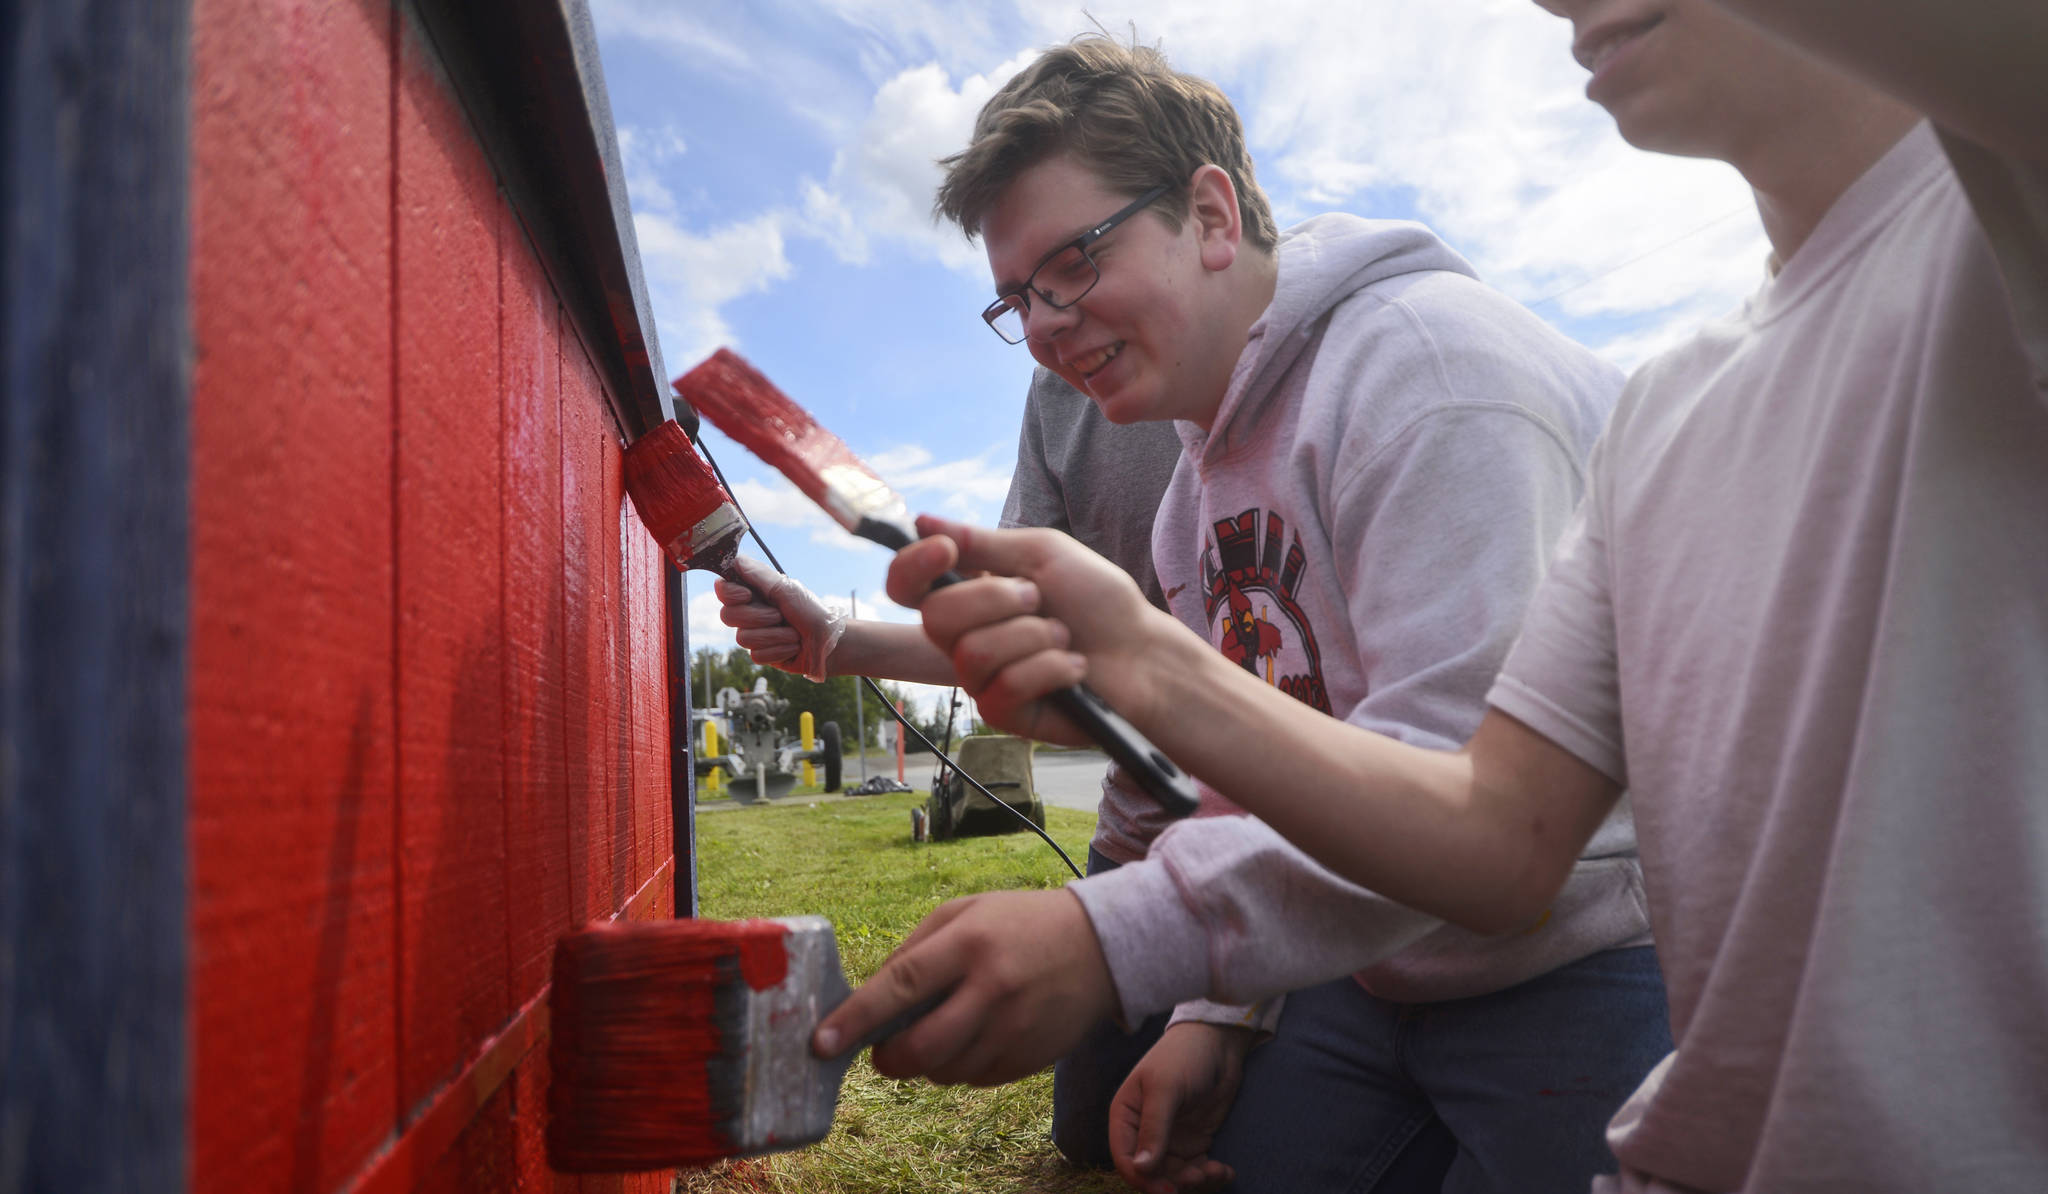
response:
{"label": "wide paintbrush with metal ferrule, lowest of the three brushes", "polygon": [[555,942],[547,1163],[563,1174],[709,1165],[825,1139],[854,1055],[811,1032],[850,987],[831,922],[610,922]]}

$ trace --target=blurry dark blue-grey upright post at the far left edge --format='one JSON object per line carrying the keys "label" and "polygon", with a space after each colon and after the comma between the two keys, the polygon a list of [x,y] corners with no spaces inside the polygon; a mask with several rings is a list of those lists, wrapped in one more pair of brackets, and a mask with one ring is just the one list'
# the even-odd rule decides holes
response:
{"label": "blurry dark blue-grey upright post at the far left edge", "polygon": [[0,33],[0,1192],[178,1192],[190,10]]}

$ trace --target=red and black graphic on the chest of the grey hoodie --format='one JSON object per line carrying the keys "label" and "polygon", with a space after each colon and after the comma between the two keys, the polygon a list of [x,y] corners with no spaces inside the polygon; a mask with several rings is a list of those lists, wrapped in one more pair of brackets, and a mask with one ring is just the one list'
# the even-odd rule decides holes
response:
{"label": "red and black graphic on the chest of the grey hoodie", "polygon": [[1272,510],[1217,520],[1202,547],[1202,610],[1227,659],[1331,713],[1315,627],[1294,600],[1309,557],[1300,535],[1288,543],[1286,530]]}

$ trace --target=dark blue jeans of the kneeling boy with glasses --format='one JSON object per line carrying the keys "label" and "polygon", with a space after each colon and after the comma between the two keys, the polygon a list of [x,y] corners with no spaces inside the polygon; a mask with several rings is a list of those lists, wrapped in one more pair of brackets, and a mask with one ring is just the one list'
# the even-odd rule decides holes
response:
{"label": "dark blue jeans of the kneeling boy with glasses", "polygon": [[1440,1004],[1337,979],[1288,995],[1210,1155],[1237,1194],[1585,1194],[1616,1169],[1608,1120],[1669,1051],[1651,946]]}

